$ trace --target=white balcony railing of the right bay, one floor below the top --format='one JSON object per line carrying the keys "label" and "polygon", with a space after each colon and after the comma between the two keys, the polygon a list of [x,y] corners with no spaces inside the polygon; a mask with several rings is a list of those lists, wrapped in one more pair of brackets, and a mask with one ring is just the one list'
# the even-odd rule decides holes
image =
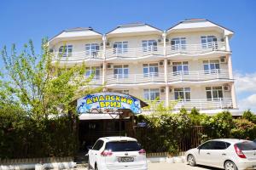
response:
{"label": "white balcony railing of the right bay, one floor below the top", "polygon": [[176,71],[168,75],[168,82],[191,81],[200,82],[216,79],[230,79],[229,71],[216,69],[209,71]]}

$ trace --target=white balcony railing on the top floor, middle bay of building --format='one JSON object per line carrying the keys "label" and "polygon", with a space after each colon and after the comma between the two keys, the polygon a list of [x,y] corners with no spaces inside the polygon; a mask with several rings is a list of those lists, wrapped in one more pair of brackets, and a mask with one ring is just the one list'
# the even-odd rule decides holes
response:
{"label": "white balcony railing on the top floor, middle bay of building", "polygon": [[106,58],[143,58],[148,55],[163,55],[161,46],[148,46],[146,48],[110,48],[106,50]]}

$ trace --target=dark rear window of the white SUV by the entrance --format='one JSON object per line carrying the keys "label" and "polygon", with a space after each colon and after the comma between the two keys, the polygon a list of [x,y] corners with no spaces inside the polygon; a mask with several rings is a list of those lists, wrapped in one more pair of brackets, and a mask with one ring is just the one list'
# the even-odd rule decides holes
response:
{"label": "dark rear window of the white SUV by the entrance", "polygon": [[137,151],[141,150],[139,144],[136,141],[117,141],[117,142],[108,142],[106,144],[106,150],[112,151]]}

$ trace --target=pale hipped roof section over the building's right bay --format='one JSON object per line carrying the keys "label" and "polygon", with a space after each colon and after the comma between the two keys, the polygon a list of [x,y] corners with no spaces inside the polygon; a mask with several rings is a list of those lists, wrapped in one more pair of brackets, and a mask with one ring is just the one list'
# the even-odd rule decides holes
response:
{"label": "pale hipped roof section over the building's right bay", "polygon": [[189,20],[182,20],[179,23],[177,23],[175,26],[170,27],[167,29],[167,32],[177,32],[177,31],[198,31],[199,29],[218,29],[224,31],[224,33],[228,36],[231,36],[234,34],[234,31],[231,31],[224,26],[220,26],[210,20],[206,19],[189,19]]}

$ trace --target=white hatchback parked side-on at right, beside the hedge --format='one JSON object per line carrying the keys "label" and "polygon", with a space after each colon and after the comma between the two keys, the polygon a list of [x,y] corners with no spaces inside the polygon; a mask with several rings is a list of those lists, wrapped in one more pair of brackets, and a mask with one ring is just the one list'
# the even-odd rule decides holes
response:
{"label": "white hatchback parked side-on at right, beside the hedge", "polygon": [[256,144],[241,139],[213,139],[185,154],[190,166],[196,164],[226,170],[256,169]]}

